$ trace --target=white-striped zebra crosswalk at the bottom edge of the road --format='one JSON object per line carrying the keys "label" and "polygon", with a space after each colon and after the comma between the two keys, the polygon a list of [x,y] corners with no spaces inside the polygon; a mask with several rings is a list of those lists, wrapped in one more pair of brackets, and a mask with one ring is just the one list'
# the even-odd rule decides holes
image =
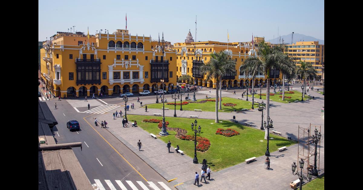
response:
{"label": "white-striped zebra crosswalk at the bottom edge of the road", "polygon": [[114,180],[114,183],[111,180],[104,180],[104,181],[106,183],[105,186],[103,186],[101,180],[94,179],[95,183],[92,184],[92,186],[97,187],[96,190],[106,190],[106,188],[111,190],[117,190],[120,188],[121,190],[131,190],[131,189],[139,190],[139,188],[142,188],[143,190],[160,190],[160,188],[165,190],[171,190],[164,182],[160,181],[156,183],[159,184],[159,186],[161,186],[160,188],[157,185],[155,185],[155,183],[152,181],[148,181],[146,185],[142,181],[136,181],[136,185],[132,183],[132,181],[127,181],[127,180],[126,180],[127,184],[125,182],[122,183],[120,180]]}

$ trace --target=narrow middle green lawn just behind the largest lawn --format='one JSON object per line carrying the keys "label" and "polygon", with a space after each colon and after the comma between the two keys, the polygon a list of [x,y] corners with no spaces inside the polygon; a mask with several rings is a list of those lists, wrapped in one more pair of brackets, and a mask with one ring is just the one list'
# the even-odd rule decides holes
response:
{"label": "narrow middle green lawn just behind the largest lawn", "polygon": [[[201,101],[201,100],[215,100],[215,98],[208,98],[208,99],[199,99],[197,100],[197,102]],[[252,97],[249,96],[249,100],[252,100]],[[256,98],[255,98],[256,100]],[[171,101],[171,99],[169,100]],[[258,101],[258,100],[256,100]],[[182,101],[184,102],[184,101]],[[193,101],[187,101],[187,102],[193,102]],[[174,103],[173,102],[168,102],[168,103]],[[176,101],[176,103],[180,103]],[[233,104],[237,104],[236,106],[224,106],[223,103],[233,103]],[[147,108],[156,108],[156,109],[162,109],[163,107],[163,103],[159,103],[159,104],[148,104]],[[167,105],[165,104],[165,107],[168,107],[171,110],[174,110],[174,105]],[[203,104],[197,104],[197,103],[189,103],[187,105],[183,105],[183,110],[194,110],[194,109],[201,109],[203,111],[216,111],[216,102],[205,102]],[[235,98],[229,98],[229,97],[222,97],[222,110],[225,111],[234,111],[234,110],[241,110],[241,109],[251,109],[252,107],[252,103],[249,101],[245,101],[245,100],[238,100]],[[258,104],[255,103],[254,104],[254,108],[257,109],[258,108]],[[180,105],[176,105],[176,109],[180,109]]]}

